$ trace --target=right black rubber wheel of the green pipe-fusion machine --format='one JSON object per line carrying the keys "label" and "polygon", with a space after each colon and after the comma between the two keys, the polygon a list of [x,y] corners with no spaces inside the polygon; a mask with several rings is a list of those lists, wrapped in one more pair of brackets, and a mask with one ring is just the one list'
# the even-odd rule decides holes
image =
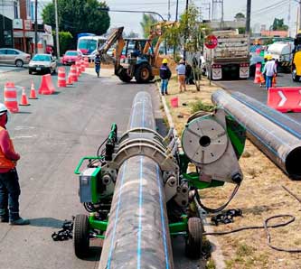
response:
{"label": "right black rubber wheel of the green pipe-fusion machine", "polygon": [[185,254],[192,259],[198,259],[202,250],[202,220],[188,219],[188,235],[186,238]]}

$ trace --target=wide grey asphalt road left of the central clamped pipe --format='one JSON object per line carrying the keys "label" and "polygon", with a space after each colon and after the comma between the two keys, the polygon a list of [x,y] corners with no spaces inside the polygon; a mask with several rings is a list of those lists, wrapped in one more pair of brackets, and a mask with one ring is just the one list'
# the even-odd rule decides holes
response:
{"label": "wide grey asphalt road left of the central clamped pipe", "polygon": [[[57,76],[52,76],[53,84]],[[39,88],[41,76],[27,70],[0,74],[0,88],[12,81],[21,97],[31,81]],[[17,169],[22,194],[21,215],[30,218],[27,227],[0,224],[0,268],[5,269],[92,269],[98,268],[100,240],[93,240],[89,258],[80,260],[73,254],[72,241],[54,242],[52,233],[85,210],[78,197],[78,177],[74,168],[83,155],[95,155],[107,137],[111,123],[125,131],[132,100],[140,90],[150,92],[155,118],[160,130],[162,115],[154,84],[124,84],[115,77],[96,78],[84,74],[76,85],[61,88],[51,96],[30,100],[31,106],[9,116],[7,129],[21,154]],[[3,93],[0,101],[3,102]],[[183,256],[183,240],[174,240],[176,268],[199,268],[198,261]]]}

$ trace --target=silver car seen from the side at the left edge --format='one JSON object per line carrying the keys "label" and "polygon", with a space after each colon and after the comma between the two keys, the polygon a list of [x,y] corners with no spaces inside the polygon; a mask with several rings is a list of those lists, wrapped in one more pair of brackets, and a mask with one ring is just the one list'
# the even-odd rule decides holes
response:
{"label": "silver car seen from the side at the left edge", "polygon": [[23,51],[1,48],[0,49],[0,63],[14,64],[17,67],[23,67],[24,64],[29,63],[31,55]]}

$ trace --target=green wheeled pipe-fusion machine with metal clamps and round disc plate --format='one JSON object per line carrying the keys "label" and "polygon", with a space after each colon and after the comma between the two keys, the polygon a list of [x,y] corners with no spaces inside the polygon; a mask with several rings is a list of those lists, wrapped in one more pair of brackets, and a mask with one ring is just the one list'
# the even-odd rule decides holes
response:
{"label": "green wheeled pipe-fusion machine with metal clamps and round disc plate", "polygon": [[[81,158],[75,174],[80,175],[80,202],[89,211],[89,218],[75,218],[75,255],[87,255],[90,237],[105,238],[118,169],[136,155],[147,156],[160,166],[171,237],[186,238],[186,255],[201,255],[202,219],[192,204],[202,205],[198,190],[222,186],[225,181],[240,185],[238,159],[245,144],[245,129],[217,109],[188,119],[182,135],[183,152],[173,134],[173,129],[162,137],[151,129],[134,128],[118,136],[118,126],[112,124],[101,153],[100,146],[97,156]],[[88,168],[80,172],[85,161]],[[191,166],[193,172],[189,172]]]}

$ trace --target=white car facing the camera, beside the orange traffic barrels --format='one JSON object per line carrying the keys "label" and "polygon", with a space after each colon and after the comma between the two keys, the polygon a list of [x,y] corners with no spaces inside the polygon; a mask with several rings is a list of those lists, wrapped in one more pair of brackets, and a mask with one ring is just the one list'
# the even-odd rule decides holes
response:
{"label": "white car facing the camera, beside the orange traffic barrels", "polygon": [[57,67],[56,59],[50,54],[35,54],[29,62],[29,74],[33,72],[55,73]]}

